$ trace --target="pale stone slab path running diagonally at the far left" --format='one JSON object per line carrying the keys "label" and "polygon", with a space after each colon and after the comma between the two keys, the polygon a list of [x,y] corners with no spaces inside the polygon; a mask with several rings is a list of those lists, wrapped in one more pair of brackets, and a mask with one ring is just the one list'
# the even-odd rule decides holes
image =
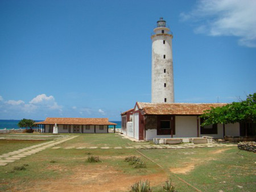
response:
{"label": "pale stone slab path running diagonally at the far left", "polygon": [[67,140],[71,140],[75,137],[77,137],[77,136],[60,137],[57,140],[49,141],[46,143],[41,143],[38,145],[32,145],[30,147],[26,147],[26,148],[19,149],[19,150],[9,152],[9,153],[4,153],[4,154],[0,155],[0,166],[5,166],[8,163],[19,160],[22,157],[27,157],[34,153],[40,152],[46,148],[53,147],[54,145],[63,143]]}

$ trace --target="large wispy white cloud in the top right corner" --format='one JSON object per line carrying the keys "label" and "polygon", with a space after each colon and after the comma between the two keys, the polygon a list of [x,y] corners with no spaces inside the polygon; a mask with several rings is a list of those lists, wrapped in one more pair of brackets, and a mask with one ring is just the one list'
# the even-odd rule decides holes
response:
{"label": "large wispy white cloud in the top right corner", "polygon": [[256,1],[200,0],[191,12],[180,14],[196,24],[195,33],[237,36],[238,44],[256,47]]}

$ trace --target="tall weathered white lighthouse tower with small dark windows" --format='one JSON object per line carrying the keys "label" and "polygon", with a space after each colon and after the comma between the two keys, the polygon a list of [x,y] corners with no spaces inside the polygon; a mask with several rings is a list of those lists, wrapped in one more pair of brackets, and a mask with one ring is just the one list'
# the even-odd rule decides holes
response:
{"label": "tall weathered white lighthouse tower with small dark windows", "polygon": [[172,34],[166,21],[160,18],[152,39],[152,103],[174,102],[174,74],[172,67]]}

